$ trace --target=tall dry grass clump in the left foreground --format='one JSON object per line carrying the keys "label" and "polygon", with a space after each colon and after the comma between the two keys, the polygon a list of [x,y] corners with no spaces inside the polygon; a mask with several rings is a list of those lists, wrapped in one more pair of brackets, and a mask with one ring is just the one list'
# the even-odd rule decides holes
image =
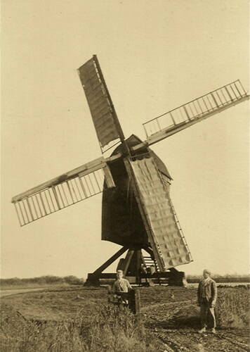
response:
{"label": "tall dry grass clump in the left foreground", "polygon": [[128,308],[103,305],[88,317],[81,311],[74,320],[29,322],[20,320],[15,332],[2,334],[1,351],[7,352],[155,352],[148,332]]}

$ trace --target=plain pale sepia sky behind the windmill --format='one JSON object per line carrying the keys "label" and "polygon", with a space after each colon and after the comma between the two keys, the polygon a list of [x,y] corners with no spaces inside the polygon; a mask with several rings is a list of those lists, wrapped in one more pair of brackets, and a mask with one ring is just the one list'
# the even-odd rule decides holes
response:
{"label": "plain pale sepia sky behind the windmill", "polygon": [[[11,204],[101,156],[77,68],[98,56],[125,137],[145,139],[157,115],[249,91],[249,1],[2,0],[1,33],[1,277],[86,278],[120,248],[100,240],[101,194],[25,227]],[[152,149],[194,260],[178,270],[248,273],[249,102]]]}

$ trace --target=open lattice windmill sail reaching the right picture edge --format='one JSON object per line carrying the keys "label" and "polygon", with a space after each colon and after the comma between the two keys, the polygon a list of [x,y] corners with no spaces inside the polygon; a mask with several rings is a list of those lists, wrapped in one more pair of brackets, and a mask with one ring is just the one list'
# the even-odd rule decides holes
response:
{"label": "open lattice windmill sail reaching the right picture edge", "polygon": [[132,149],[136,151],[145,145],[150,146],[157,143],[247,99],[249,99],[249,95],[244,91],[239,80],[232,82],[145,122],[147,139]]}

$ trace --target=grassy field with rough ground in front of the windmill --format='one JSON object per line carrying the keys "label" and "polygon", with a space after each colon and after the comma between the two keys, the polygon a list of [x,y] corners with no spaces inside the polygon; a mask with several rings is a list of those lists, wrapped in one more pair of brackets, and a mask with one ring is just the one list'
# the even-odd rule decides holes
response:
{"label": "grassy field with rough ground in front of the windmill", "polygon": [[216,337],[197,334],[196,289],[139,290],[140,321],[129,310],[108,305],[105,288],[56,287],[6,296],[1,351],[249,351],[249,289],[218,289]]}

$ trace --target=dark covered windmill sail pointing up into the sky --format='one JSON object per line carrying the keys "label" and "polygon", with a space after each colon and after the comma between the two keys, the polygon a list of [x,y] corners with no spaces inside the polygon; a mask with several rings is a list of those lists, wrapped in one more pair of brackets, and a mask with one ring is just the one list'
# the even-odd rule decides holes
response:
{"label": "dark covered windmill sail pointing up into the sky", "polygon": [[[79,78],[88,101],[100,148],[104,153],[117,143],[124,142],[117,113],[114,110],[102,70],[96,55],[78,69]],[[114,142],[115,141],[115,142]]]}

